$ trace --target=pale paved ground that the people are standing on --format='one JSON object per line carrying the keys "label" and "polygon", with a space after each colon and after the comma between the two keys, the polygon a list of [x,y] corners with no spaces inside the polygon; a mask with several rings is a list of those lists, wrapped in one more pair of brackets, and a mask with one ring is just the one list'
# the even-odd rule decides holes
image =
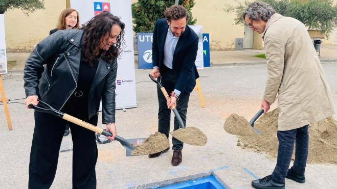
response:
{"label": "pale paved ground that the people are standing on", "polygon": [[[337,64],[325,63],[323,68],[337,109]],[[157,130],[158,102],[155,84],[149,82],[148,72],[136,70],[136,82],[140,82],[136,84],[138,107],[126,112],[117,111],[118,134],[123,138],[145,138]],[[210,67],[199,71],[199,74],[205,108],[201,107],[198,93],[193,92],[187,126],[202,130],[208,137],[208,143],[203,147],[185,145],[183,162],[178,167],[171,166],[171,150],[154,159],[147,156],[125,157],[120,143],[100,144],[96,166],[97,188],[155,188],[165,180],[170,180],[168,183],[173,182],[171,179],[181,180],[181,177],[213,171],[231,188],[242,189],[252,188],[251,181],[256,177],[272,173],[276,159],[237,147],[237,137],[223,129],[224,121],[230,114],[236,113],[250,120],[259,110],[266,79],[265,65]],[[21,73],[8,74],[3,79],[9,99],[25,97]],[[271,110],[275,107],[273,104]],[[23,104],[11,103],[9,111],[12,131],[7,128],[3,106],[0,105],[0,186],[4,189],[27,188],[33,110],[27,110]],[[336,116],[334,118],[337,119]],[[98,126],[103,128],[104,125]],[[71,136],[63,138],[63,141],[70,140]],[[60,153],[52,188],[72,187],[71,168],[72,152]],[[337,165],[309,164],[307,182],[299,184],[286,179],[286,188],[335,188],[336,175]],[[148,184],[153,182],[157,183]]]}

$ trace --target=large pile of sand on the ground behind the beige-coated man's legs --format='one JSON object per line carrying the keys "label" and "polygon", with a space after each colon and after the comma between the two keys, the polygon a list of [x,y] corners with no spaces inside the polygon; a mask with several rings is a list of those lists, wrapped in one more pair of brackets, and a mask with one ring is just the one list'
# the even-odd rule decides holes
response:
{"label": "large pile of sand on the ground behind the beige-coated man's legs", "polygon": [[[263,132],[254,136],[239,137],[238,146],[254,150],[257,153],[266,153],[277,158],[278,139],[277,123],[279,109],[262,115],[254,127]],[[309,125],[309,154],[307,163],[337,164],[337,121],[328,117]],[[295,159],[295,145],[292,160]]]}

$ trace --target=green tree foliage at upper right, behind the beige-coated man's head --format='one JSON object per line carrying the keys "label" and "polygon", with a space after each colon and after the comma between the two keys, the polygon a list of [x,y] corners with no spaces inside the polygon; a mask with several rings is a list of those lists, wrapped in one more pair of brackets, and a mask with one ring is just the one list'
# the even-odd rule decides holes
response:
{"label": "green tree foliage at upper right, behind the beige-coated man's head", "polygon": [[[234,12],[235,24],[245,24],[242,19],[242,12],[254,1],[245,0],[243,3],[234,0],[237,6],[225,5],[223,9],[227,13]],[[337,5],[333,5],[332,0],[261,0],[271,5],[275,11],[283,16],[293,17],[304,23],[308,30],[318,30],[325,37],[329,37],[331,30],[337,26]]]}

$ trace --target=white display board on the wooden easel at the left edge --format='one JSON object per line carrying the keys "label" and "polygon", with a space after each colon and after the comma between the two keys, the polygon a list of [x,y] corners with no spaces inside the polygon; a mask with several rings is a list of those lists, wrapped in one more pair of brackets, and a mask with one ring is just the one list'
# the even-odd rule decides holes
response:
{"label": "white display board on the wooden easel at the left edge", "polygon": [[7,73],[7,59],[6,59],[5,19],[4,15],[0,14],[0,74],[6,73]]}

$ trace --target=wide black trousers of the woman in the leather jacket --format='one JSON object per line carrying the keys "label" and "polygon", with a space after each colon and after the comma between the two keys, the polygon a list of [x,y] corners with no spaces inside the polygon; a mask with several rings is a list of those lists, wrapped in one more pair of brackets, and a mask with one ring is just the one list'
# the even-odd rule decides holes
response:
{"label": "wide black trousers of the woman in the leather jacket", "polygon": [[[87,110],[69,115],[97,125],[98,116],[88,120]],[[55,178],[66,120],[35,111],[35,128],[29,163],[30,189],[50,188]],[[69,122],[73,139],[73,188],[96,188],[97,145],[95,132]]]}

